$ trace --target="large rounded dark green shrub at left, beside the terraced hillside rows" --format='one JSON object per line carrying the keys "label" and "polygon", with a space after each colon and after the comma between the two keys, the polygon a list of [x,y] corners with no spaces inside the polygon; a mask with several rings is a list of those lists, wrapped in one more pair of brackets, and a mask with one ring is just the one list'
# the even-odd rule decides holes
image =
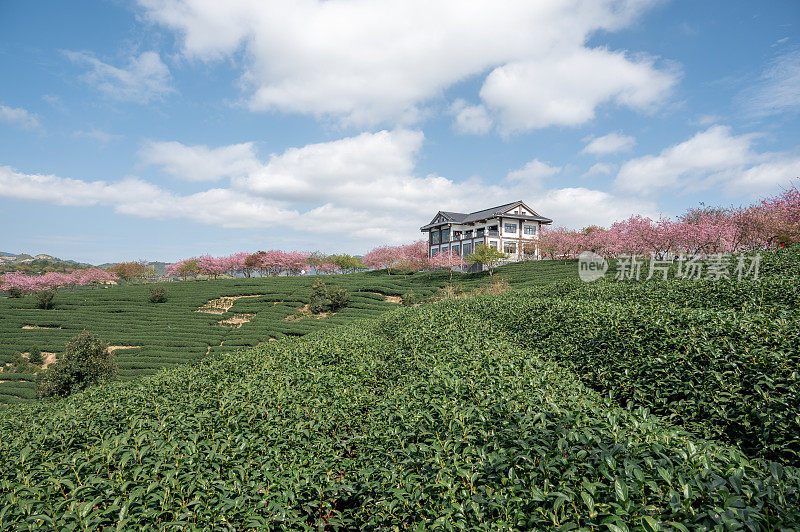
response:
{"label": "large rounded dark green shrub at left, beside the terraced hillside rows", "polygon": [[86,331],[72,339],[64,356],[39,374],[39,397],[65,396],[117,374],[117,364],[108,344]]}

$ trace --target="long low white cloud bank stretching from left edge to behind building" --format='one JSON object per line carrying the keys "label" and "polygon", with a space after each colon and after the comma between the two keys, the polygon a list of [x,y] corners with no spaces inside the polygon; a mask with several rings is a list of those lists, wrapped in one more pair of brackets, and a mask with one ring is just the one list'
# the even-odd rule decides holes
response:
{"label": "long low white cloud bank stretching from left edge to behind building", "polygon": [[[536,159],[497,183],[476,177],[455,181],[435,174],[419,176],[415,164],[423,140],[421,132],[402,129],[364,133],[290,148],[266,162],[254,162],[249,149],[241,150],[241,168],[250,167],[246,176],[227,172],[229,183],[188,195],[135,177],[83,181],[0,167],[0,196],[106,206],[129,216],[226,228],[280,228],[287,238],[311,234],[318,239],[333,235],[340,242],[361,239],[355,244],[360,249],[352,251],[415,240],[419,227],[440,209],[471,212],[525,199],[559,224],[585,225],[627,215],[633,205],[624,197],[597,190],[548,189],[542,181],[561,169]],[[236,166],[232,159],[219,163],[219,154],[230,146],[179,146],[179,151],[185,148],[192,156],[189,162],[178,158],[173,169],[201,167],[207,161],[215,168],[212,174],[219,176],[220,168]],[[160,164],[173,162],[162,158]]]}

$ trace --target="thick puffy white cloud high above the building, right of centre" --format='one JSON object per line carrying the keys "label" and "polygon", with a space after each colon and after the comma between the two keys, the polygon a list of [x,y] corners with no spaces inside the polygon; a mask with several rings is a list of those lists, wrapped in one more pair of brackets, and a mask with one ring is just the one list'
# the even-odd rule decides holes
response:
{"label": "thick puffy white cloud high above the building, right of centre", "polygon": [[663,101],[676,75],[656,70],[651,59],[631,60],[621,52],[575,48],[496,68],[481,88],[505,132],[552,125],[577,126],[597,107],[615,103],[650,111]]}

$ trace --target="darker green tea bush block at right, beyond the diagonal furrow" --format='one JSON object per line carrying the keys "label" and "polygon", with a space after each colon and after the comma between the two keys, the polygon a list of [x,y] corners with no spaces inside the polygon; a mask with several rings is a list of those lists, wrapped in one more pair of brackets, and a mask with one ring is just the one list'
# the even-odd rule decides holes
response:
{"label": "darker green tea bush block at right, beyond the diagonal furrow", "polygon": [[[572,294],[574,294],[573,292]],[[646,406],[751,456],[800,463],[800,320],[656,304],[531,297],[470,311],[575,369],[629,408]]]}

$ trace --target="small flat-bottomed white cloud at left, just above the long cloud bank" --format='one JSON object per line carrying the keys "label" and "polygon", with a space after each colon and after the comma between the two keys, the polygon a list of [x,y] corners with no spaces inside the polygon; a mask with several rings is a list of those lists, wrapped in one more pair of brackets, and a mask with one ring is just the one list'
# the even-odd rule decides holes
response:
{"label": "small flat-bottomed white cloud at left, just above the long cloud bank", "polygon": [[162,166],[166,173],[187,181],[240,177],[259,167],[252,142],[214,149],[180,142],[147,142],[139,150],[139,157],[144,163]]}

